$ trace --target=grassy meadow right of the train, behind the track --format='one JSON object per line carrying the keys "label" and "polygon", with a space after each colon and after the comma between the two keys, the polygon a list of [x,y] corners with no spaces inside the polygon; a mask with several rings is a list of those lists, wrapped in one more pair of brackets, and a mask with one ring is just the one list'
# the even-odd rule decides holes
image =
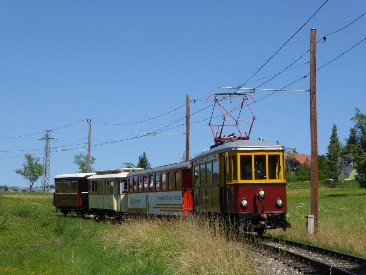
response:
{"label": "grassy meadow right of the train, behind the track", "polygon": [[319,229],[306,233],[305,216],[310,214],[310,182],[289,183],[287,232],[270,231],[266,235],[307,242],[366,257],[366,190],[356,181],[343,181],[336,188],[319,184]]}

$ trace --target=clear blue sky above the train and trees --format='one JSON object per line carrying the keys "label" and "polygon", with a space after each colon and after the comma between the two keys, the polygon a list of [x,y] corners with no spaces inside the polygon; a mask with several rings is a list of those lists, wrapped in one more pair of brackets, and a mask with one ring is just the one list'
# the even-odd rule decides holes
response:
{"label": "clear blue sky above the train and trees", "polygon": [[[55,129],[85,118],[109,123],[144,120],[184,104],[186,94],[191,99],[205,99],[223,92],[217,86],[241,85],[322,3],[2,1],[0,137]],[[309,49],[311,28],[322,37],[365,11],[365,1],[328,1],[252,80],[283,70]],[[325,43],[318,43],[317,67],[365,38],[365,22],[366,16],[328,36]],[[366,41],[317,72],[320,154],[326,153],[333,123],[343,141],[352,125],[354,108],[366,112],[365,48]],[[307,61],[309,54],[295,65]],[[299,66],[263,88],[281,88],[308,72],[309,64]],[[288,88],[309,89],[309,77]],[[267,94],[258,91],[253,96],[259,99]],[[191,104],[191,113],[207,105],[196,101]],[[268,141],[280,140],[299,153],[310,153],[309,93],[278,92],[251,108],[257,116],[252,139],[262,136]],[[209,118],[211,111],[209,107],[192,115],[191,122]],[[161,126],[154,126],[184,115],[182,107],[139,124],[93,122],[92,142],[126,139],[134,136],[131,131],[150,127],[150,131],[157,130]],[[246,130],[246,125],[242,128]],[[87,131],[86,122],[56,130],[52,136],[57,140],[51,146],[87,142]],[[167,132],[185,132],[185,126]],[[1,151],[41,149],[0,152],[0,157],[42,153],[41,137],[0,139]],[[97,169],[137,163],[142,151],[146,151],[152,166],[158,166],[179,162],[184,144],[184,135],[146,136],[95,146],[91,154],[97,158]],[[211,144],[207,121],[192,124],[191,156]],[[78,151],[51,154],[51,179],[77,170],[72,165],[75,153]],[[42,161],[43,155],[39,156]],[[0,159],[0,184],[26,186],[25,180],[14,173],[23,161],[23,157]],[[40,185],[40,180],[35,185]]]}

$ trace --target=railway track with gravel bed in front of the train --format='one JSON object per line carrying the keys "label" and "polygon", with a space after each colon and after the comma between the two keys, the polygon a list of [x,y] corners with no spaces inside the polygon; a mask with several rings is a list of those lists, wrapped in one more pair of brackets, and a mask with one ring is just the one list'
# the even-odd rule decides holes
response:
{"label": "railway track with gravel bed in front of the train", "polygon": [[256,249],[303,274],[366,275],[366,259],[323,247],[248,234]]}

